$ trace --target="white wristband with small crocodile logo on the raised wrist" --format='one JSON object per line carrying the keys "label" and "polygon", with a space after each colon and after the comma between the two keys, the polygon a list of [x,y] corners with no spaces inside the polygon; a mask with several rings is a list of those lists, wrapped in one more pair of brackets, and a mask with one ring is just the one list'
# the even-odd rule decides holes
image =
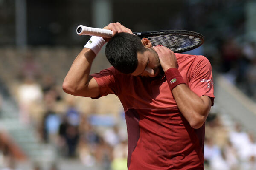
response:
{"label": "white wristband with small crocodile logo on the raised wrist", "polygon": [[84,48],[90,48],[97,55],[105,43],[102,37],[92,36]]}

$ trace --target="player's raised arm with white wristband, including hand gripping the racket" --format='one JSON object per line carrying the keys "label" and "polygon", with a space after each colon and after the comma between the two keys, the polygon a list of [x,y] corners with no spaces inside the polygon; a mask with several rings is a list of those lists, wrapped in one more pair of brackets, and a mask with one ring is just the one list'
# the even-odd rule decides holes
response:
{"label": "player's raised arm with white wristband, including hand gripping the racket", "polygon": [[[113,35],[119,32],[132,34],[130,29],[120,23],[110,23],[103,29],[112,30]],[[64,79],[62,88],[68,94],[84,97],[99,96],[99,86],[89,74],[93,59],[108,39],[103,40],[95,36],[92,36],[91,39],[93,40],[87,43],[85,48],[78,54]]]}

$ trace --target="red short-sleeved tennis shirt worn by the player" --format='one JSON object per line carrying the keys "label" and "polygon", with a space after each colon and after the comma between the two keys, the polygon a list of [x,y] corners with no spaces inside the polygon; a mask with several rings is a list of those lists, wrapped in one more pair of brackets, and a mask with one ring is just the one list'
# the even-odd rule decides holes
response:
{"label": "red short-sleeved tennis shirt worn by the player", "polygon": [[[209,96],[213,105],[208,59],[175,55],[189,88],[198,96]],[[165,76],[134,77],[113,67],[92,76],[99,85],[100,96],[116,94],[124,107],[128,170],[204,170],[204,125],[199,129],[189,125],[177,108]]]}

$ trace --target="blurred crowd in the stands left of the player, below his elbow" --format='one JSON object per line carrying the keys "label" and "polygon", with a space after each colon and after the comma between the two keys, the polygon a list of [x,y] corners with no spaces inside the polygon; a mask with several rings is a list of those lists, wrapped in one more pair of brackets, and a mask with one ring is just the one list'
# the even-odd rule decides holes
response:
{"label": "blurred crowd in the stands left of the player, below his elbow", "polygon": [[[20,122],[34,128],[39,141],[52,144],[63,159],[79,159],[85,167],[97,165],[103,170],[127,169],[125,116],[118,99],[110,96],[94,100],[65,94],[58,83],[63,79],[46,74],[30,53],[24,56],[9,86]],[[57,169],[58,164],[53,164],[51,170]],[[35,162],[33,170],[42,170],[41,163]]]}

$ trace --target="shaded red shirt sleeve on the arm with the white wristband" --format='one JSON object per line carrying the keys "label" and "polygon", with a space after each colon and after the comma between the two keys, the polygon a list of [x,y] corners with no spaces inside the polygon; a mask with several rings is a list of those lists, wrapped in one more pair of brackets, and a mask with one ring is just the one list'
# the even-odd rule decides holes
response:
{"label": "shaded red shirt sleeve on the arm with the white wristband", "polygon": [[117,80],[116,70],[113,67],[102,70],[99,73],[91,74],[91,76],[96,80],[99,85],[99,96],[93,99],[97,99],[102,96],[107,96],[108,94],[118,94],[119,93],[119,83]]}

